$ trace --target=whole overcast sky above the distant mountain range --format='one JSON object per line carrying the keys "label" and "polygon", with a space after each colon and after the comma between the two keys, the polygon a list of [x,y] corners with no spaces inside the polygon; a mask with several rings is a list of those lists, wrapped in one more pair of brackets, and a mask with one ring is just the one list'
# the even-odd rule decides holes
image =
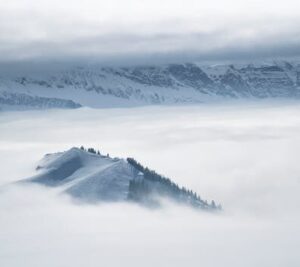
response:
{"label": "whole overcast sky above the distant mountain range", "polygon": [[299,0],[10,0],[0,62],[300,55]]}

